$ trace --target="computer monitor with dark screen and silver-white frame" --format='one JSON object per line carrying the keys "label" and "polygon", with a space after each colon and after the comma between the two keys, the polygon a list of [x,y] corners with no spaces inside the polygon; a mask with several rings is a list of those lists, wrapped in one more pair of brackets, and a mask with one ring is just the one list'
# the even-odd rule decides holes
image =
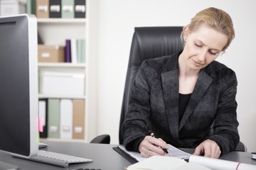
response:
{"label": "computer monitor with dark screen and silver-white frame", "polygon": [[0,17],[0,150],[16,157],[38,152],[37,65],[36,17]]}

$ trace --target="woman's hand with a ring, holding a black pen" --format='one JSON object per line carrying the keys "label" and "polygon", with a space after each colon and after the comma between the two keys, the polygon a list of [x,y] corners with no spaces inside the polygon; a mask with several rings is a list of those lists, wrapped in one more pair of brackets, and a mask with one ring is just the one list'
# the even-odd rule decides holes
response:
{"label": "woman's hand with a ring, holding a black pen", "polygon": [[139,144],[139,152],[142,157],[151,157],[153,155],[165,155],[163,149],[168,149],[168,146],[164,140],[161,138],[154,138],[151,136],[146,136],[142,142]]}

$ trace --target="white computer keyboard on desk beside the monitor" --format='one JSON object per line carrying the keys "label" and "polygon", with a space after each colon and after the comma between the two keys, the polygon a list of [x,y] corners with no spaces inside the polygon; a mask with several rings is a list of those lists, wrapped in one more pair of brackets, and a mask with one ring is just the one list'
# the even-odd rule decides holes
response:
{"label": "white computer keyboard on desk beside the monitor", "polygon": [[55,166],[62,166],[65,168],[67,168],[69,164],[92,162],[92,159],[85,159],[81,157],[75,157],[68,154],[60,154],[46,150],[39,150],[38,154],[35,157],[30,157],[28,159],[36,162],[52,164]]}

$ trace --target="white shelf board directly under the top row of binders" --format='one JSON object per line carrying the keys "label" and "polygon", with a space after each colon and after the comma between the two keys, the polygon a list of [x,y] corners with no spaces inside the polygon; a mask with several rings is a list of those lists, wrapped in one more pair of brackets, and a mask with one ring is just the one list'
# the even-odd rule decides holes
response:
{"label": "white shelf board directly under the top row of binders", "polygon": [[86,18],[38,18],[38,23],[86,23]]}

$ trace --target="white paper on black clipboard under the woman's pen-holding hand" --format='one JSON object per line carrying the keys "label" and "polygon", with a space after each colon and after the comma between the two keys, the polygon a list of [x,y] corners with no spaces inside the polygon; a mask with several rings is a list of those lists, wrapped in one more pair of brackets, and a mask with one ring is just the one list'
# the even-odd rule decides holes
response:
{"label": "white paper on black clipboard under the woman's pen-holding hand", "polygon": [[[191,154],[188,154],[187,152],[183,152],[181,149],[178,149],[172,145],[168,144],[168,154],[166,154],[166,157],[176,157],[176,158],[180,158],[180,159],[189,159],[189,157],[191,157]],[[144,157],[142,157],[139,152],[130,152],[127,151],[127,149],[125,149],[124,146],[118,146],[119,149],[122,150],[122,152],[124,152],[125,154],[129,155],[129,157],[132,157],[133,159],[136,159],[137,162],[141,162],[142,160],[146,159]]]}

